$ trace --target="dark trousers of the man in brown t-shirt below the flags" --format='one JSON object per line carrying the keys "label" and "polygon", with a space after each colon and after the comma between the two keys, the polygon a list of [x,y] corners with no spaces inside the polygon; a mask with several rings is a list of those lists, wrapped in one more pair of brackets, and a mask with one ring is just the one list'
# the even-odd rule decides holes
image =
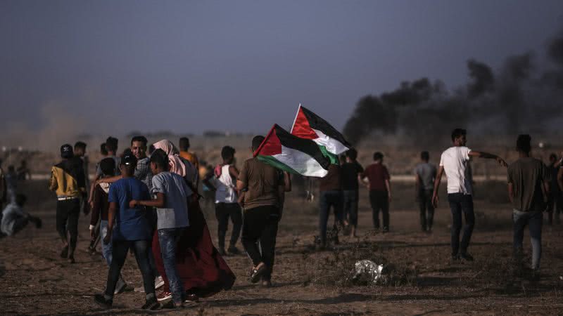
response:
{"label": "dark trousers of the man in brown t-shirt below the flags", "polygon": [[[242,224],[242,244],[254,266],[265,263],[267,272],[264,277],[270,279],[274,268],[277,225],[279,209],[277,206],[258,206],[244,210]],[[260,247],[258,247],[260,242]]]}

